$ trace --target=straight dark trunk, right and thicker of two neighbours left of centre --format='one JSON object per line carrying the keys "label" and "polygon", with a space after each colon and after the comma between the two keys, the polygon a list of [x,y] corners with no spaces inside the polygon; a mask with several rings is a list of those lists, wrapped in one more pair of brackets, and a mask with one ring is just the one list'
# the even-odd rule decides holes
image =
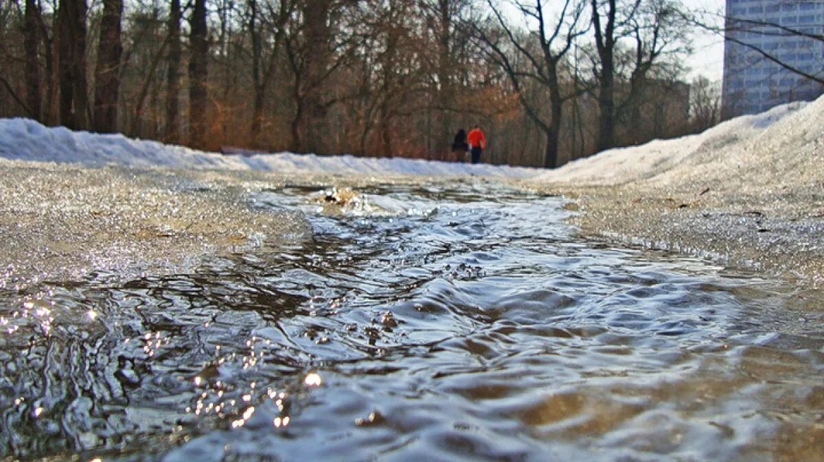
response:
{"label": "straight dark trunk, right and thicker of two neighbours left of centre", "polygon": [[189,143],[193,147],[208,144],[208,29],[206,0],[194,0],[189,35]]}

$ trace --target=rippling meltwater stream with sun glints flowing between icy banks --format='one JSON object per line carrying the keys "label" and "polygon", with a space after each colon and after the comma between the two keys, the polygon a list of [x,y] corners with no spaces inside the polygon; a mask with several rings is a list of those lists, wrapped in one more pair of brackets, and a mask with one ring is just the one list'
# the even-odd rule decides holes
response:
{"label": "rippling meltwater stream with sun glints flowing between icy banks", "polygon": [[561,198],[358,193],[255,194],[296,245],[0,294],[0,459],[824,460],[820,300]]}

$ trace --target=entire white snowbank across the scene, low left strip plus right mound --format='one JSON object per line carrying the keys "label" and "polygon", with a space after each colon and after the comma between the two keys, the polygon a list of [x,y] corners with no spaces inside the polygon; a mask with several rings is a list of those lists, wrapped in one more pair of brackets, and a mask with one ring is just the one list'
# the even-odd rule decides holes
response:
{"label": "entire white snowbank across the scene, low left strip plus right mound", "polygon": [[[0,119],[0,157],[25,161],[344,175],[483,175],[569,184],[627,184],[642,180],[666,184],[695,175],[704,180],[708,175],[715,176],[723,181],[728,175],[749,172],[747,180],[751,187],[758,187],[765,180],[775,182],[776,178],[794,175],[791,172],[802,169],[822,170],[821,143],[824,97],[809,104],[791,103],[763,114],[738,117],[704,133],[611,149],[555,170],[288,152],[223,156],[119,134],[47,128],[30,119]],[[781,155],[776,156],[776,152]],[[773,176],[764,178],[766,173]]]}

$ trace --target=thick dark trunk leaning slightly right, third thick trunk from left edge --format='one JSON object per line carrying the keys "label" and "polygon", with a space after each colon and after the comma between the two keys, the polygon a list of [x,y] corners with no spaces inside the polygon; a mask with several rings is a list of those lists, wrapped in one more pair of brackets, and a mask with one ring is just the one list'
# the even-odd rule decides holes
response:
{"label": "thick dark trunk leaning slightly right, third thick trunk from left edge", "polygon": [[117,131],[117,101],[120,93],[120,18],[122,0],[103,0],[101,39],[95,72],[94,126],[100,133]]}

